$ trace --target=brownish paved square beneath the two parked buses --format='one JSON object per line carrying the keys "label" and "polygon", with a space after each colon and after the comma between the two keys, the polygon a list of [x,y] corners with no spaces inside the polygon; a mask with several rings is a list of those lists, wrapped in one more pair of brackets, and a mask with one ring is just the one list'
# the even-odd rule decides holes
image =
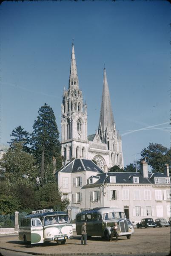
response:
{"label": "brownish paved square beneath the two parked buses", "polygon": [[[131,239],[120,237],[118,241],[103,241],[99,237],[88,240],[88,245],[80,245],[80,236],[74,233],[74,239],[67,240],[65,245],[51,242],[48,244],[25,245],[18,236],[1,236],[0,252],[3,256],[34,255],[155,255],[170,253],[170,227],[136,229]],[[4,250],[8,249],[8,250]]]}

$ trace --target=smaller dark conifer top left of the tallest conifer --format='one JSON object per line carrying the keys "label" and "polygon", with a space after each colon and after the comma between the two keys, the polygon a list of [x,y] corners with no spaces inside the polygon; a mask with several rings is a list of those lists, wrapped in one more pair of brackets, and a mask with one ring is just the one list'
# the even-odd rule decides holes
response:
{"label": "smaller dark conifer top left of the tallest conifer", "polygon": [[22,128],[21,125],[16,127],[10,135],[11,137],[14,137],[14,139],[11,139],[11,141],[8,143],[11,147],[14,144],[14,142],[21,142],[23,145],[23,150],[29,153],[30,148],[27,146],[30,143],[29,133],[23,130],[24,128]]}

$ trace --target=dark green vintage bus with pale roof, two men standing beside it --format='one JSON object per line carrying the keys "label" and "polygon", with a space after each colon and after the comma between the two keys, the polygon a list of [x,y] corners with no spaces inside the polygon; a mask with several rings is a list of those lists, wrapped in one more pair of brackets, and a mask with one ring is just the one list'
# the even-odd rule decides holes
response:
{"label": "dark green vintage bus with pale roof, two men standing beside it", "polygon": [[127,239],[131,238],[134,233],[131,226],[128,225],[125,213],[122,209],[114,207],[102,207],[89,209],[79,212],[76,215],[76,231],[77,235],[81,235],[81,226],[86,222],[87,237],[101,236],[105,240],[110,239],[111,227],[114,222],[117,222],[117,233],[119,236],[126,236]]}

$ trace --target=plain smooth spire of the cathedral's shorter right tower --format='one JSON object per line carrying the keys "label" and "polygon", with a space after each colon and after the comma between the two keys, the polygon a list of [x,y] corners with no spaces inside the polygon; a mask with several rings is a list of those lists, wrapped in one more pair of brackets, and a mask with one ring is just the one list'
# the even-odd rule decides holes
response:
{"label": "plain smooth spire of the cathedral's shorter right tower", "polygon": [[105,133],[111,132],[114,129],[114,116],[111,108],[111,100],[108,90],[108,81],[106,77],[106,71],[104,68],[103,76],[103,95],[100,110],[100,121],[99,121],[99,134],[103,137],[103,143],[105,143]]}

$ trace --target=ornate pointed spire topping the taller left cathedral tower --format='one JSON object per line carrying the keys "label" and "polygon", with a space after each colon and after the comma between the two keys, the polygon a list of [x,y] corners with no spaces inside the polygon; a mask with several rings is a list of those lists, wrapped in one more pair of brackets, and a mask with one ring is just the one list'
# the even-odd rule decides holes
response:
{"label": "ornate pointed spire topping the taller left cathedral tower", "polygon": [[74,44],[72,44],[71,68],[70,68],[70,76],[69,76],[69,88],[71,87],[75,89],[79,87]]}

